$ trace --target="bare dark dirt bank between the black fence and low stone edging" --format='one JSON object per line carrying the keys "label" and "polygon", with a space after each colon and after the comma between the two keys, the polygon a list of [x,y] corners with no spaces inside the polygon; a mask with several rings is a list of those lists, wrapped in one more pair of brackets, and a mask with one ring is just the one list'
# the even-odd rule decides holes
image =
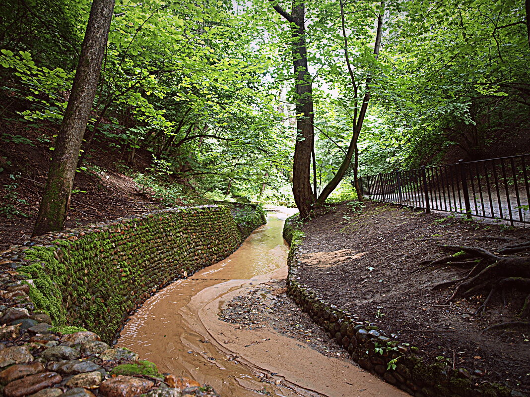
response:
{"label": "bare dark dirt bank between the black fence and low stone edging", "polygon": [[362,212],[351,204],[332,207],[303,231],[300,282],[324,300],[377,323],[386,335],[420,347],[432,362],[449,360],[456,369],[470,368],[479,377],[488,374],[489,381],[530,390],[528,328],[483,332],[492,324],[524,320],[517,314],[528,292],[499,290],[485,313],[475,314],[489,290],[446,302],[455,284],[432,288],[461,278],[469,268],[429,265],[447,255],[440,245],[496,252],[507,242],[530,240],[527,229],[367,203]]}

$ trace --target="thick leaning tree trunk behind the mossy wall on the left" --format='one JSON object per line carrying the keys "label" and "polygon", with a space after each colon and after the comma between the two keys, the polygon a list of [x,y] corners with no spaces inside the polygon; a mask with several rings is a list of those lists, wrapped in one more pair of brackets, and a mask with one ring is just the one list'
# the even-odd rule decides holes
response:
{"label": "thick leaning tree trunk behind the mossy wall on the left", "polygon": [[92,2],[72,92],[57,134],[33,236],[64,227],[77,159],[98,86],[113,10],[114,0]]}

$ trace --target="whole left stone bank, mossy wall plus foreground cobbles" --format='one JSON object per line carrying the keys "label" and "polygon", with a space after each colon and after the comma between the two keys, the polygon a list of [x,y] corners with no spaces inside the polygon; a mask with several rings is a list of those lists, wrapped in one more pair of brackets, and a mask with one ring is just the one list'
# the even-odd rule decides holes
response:
{"label": "whole left stone bank, mossy wall plus foreground cobbles", "polygon": [[3,395],[216,396],[107,342],[157,289],[231,254],[248,236],[248,223],[257,227],[264,214],[252,206],[242,219],[246,224],[237,224],[217,205],[153,211],[48,233],[2,252]]}

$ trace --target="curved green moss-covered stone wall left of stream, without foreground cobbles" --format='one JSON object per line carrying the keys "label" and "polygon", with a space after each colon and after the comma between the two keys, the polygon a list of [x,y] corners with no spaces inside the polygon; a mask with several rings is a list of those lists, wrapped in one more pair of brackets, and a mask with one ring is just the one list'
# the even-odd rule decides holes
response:
{"label": "curved green moss-covered stone wall left of stream, without foreground cobbles", "polygon": [[[262,212],[249,211],[253,228],[264,223]],[[4,252],[3,263],[26,278],[54,326],[112,341],[149,295],[227,257],[246,236],[226,206],[181,207],[48,233]]]}

